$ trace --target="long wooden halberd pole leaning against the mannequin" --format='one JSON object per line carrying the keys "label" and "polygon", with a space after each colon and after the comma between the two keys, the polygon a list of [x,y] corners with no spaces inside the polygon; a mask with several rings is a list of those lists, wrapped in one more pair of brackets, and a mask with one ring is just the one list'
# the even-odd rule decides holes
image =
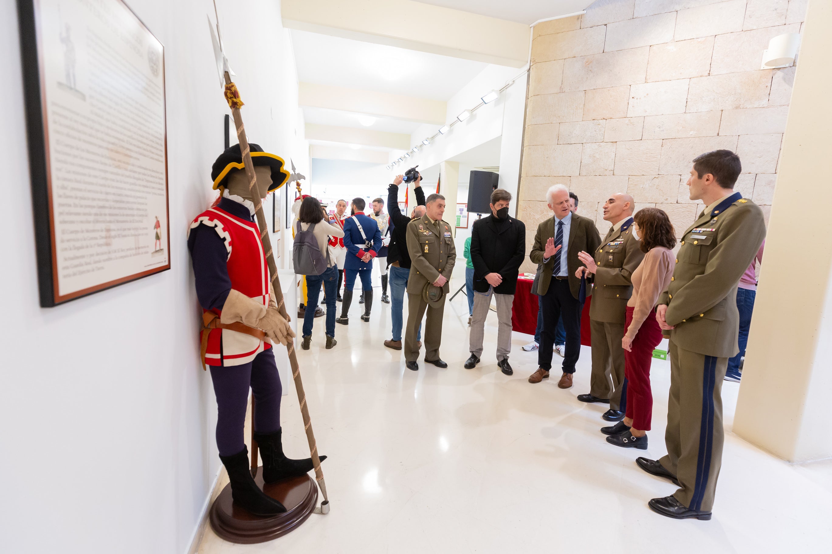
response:
{"label": "long wooden halberd pole leaning against the mannequin", "polygon": [[[225,71],[225,85],[231,84],[231,76],[228,71]],[[257,184],[257,174],[255,174],[255,166],[251,163],[251,152],[249,150],[249,141],[245,138],[245,126],[243,125],[243,118],[240,115],[240,108],[231,108],[231,116],[234,118],[234,126],[237,130],[237,140],[240,141],[240,151],[243,154],[243,165],[245,166],[245,175],[249,179],[249,190],[251,191],[250,199],[255,203],[255,215],[257,216],[257,225],[260,227],[260,240],[263,242],[265,249],[265,259],[269,264],[269,272],[271,275],[271,286],[275,290],[275,303],[280,315],[284,316],[286,321],[289,321],[289,315],[286,312],[286,306],[283,298],[283,289],[280,288],[280,278],[277,276],[277,264],[275,263],[275,252],[271,248],[271,240],[269,238],[269,226],[265,220],[265,213],[263,213],[263,200],[260,199],[260,194],[255,194]],[[289,351],[289,363],[292,368],[292,378],[295,380],[295,390],[298,393],[298,402],[300,402],[300,415],[304,419],[304,429],[306,431],[306,440],[310,444],[310,453],[312,454],[312,464],[314,466],[315,480],[318,481],[320,492],[324,495],[324,503],[329,504],[329,498],[326,494],[326,483],[324,482],[324,472],[320,468],[320,457],[318,455],[318,445],[314,440],[314,433],[312,432],[312,420],[310,419],[309,406],[306,404],[306,393],[304,391],[303,380],[300,379],[300,366],[298,365],[298,356],[295,353],[295,342],[289,343],[286,347]],[[252,409],[252,416],[254,409]],[[254,422],[252,421],[251,428],[254,429]],[[257,467],[257,447],[252,440],[251,453],[253,456],[254,467]]]}

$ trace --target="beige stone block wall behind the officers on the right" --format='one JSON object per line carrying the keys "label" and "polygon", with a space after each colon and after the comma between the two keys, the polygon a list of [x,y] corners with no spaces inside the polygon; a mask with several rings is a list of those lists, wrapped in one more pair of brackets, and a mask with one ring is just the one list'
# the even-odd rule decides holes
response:
{"label": "beige stone block wall behind the officers on the right", "polygon": [[682,233],[704,208],[688,199],[691,160],[721,148],[740,155],[735,190],[768,218],[795,67],[760,61],[772,37],[801,31],[806,2],[597,0],[534,27],[518,193],[527,252],[557,183],[602,235],[604,202],[625,191]]}

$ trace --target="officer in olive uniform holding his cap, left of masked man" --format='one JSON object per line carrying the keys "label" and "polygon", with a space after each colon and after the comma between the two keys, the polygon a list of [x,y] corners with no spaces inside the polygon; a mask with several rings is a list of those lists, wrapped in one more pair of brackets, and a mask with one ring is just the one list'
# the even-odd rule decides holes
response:
{"label": "officer in olive uniform holding his cap, left of masked man", "polygon": [[[408,223],[407,240],[410,253],[410,274],[408,277],[408,324],[404,334],[404,359],[409,370],[418,370],[418,346],[416,331],[424,311],[428,320],[424,326],[424,361],[437,367],[448,367],[439,358],[439,343],[442,341],[442,316],[445,310],[445,295],[450,290],[448,281],[453,273],[457,250],[453,245],[453,228],[443,221],[445,197],[431,194],[425,202],[425,213],[421,218]],[[443,296],[438,302],[428,301],[423,296],[425,287],[433,284],[441,287]]]}

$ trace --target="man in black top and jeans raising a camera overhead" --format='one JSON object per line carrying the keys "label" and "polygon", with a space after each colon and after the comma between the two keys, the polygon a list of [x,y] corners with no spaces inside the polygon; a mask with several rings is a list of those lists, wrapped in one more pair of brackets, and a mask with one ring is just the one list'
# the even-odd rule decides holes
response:
{"label": "man in black top and jeans raising a camera overhead", "polygon": [[[390,273],[390,296],[393,302],[390,305],[390,319],[393,321],[393,338],[384,341],[384,346],[393,350],[402,350],[402,326],[404,307],[404,291],[408,287],[410,275],[410,254],[408,252],[407,229],[408,223],[415,218],[424,215],[424,191],[422,190],[422,176],[414,183],[414,194],[416,195],[416,207],[410,213],[410,217],[404,215],[399,209],[399,184],[402,184],[404,175],[399,175],[389,186],[387,194],[387,211],[390,214],[390,245],[387,251],[387,262]],[[407,185],[405,185],[407,186]],[[421,346],[421,332],[419,327],[416,340]]]}

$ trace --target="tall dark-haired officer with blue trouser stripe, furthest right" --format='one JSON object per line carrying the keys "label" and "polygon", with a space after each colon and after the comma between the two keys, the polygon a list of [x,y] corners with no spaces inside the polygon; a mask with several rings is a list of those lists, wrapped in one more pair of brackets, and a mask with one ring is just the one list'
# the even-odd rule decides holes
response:
{"label": "tall dark-haired officer with blue trouser stripe, furthest right", "polygon": [[762,210],[733,190],[740,171],[730,150],[693,160],[691,200],[706,208],[682,235],[656,309],[659,326],[670,332],[667,455],[636,463],[680,487],[649,503],[667,517],[711,519],[722,464],[722,379],[728,358],[739,351],[736,287],[765,238]]}

